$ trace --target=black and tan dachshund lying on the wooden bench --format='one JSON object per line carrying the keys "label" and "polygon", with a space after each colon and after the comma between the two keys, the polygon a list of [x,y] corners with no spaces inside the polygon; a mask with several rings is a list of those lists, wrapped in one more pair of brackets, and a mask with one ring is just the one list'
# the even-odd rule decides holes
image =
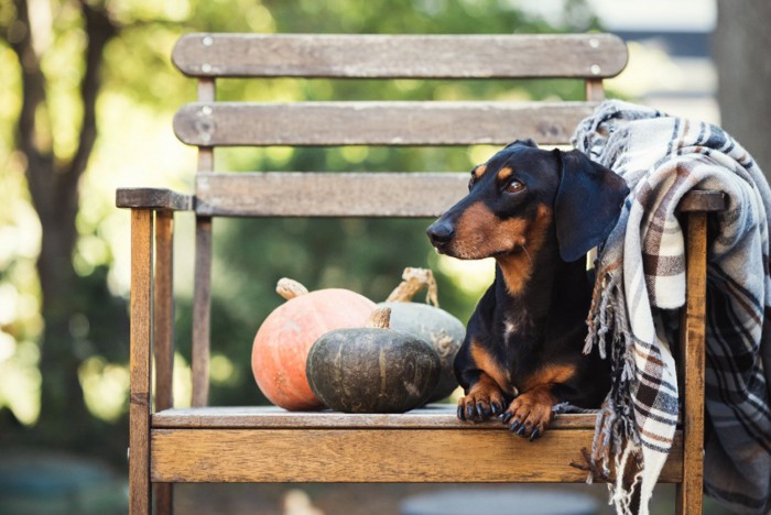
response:
{"label": "black and tan dachshund lying on the wooden bench", "polygon": [[496,280],[468,322],[455,360],[463,420],[500,416],[533,438],[552,407],[599,407],[606,360],[583,355],[591,285],[585,254],[616,224],[621,177],[578,151],[517,141],[471,171],[469,193],[427,230],[461,260],[495,258]]}

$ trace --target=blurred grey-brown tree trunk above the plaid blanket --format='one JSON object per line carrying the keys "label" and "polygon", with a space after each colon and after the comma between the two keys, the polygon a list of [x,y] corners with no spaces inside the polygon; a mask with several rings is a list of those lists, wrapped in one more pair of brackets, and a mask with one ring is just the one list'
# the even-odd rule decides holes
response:
{"label": "blurred grey-brown tree trunk above the plaid blanket", "polygon": [[723,127],[771,177],[771,2],[718,0],[713,53]]}

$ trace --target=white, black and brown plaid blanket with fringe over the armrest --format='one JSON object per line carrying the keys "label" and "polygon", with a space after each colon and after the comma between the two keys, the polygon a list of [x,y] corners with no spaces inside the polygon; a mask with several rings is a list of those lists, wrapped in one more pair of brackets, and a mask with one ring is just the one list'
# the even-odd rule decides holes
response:
{"label": "white, black and brown plaid blanket with fringe over the armrest", "polygon": [[[741,513],[771,512],[771,190],[752,157],[708,123],[606,101],[574,145],[627,180],[619,223],[600,250],[586,351],[612,363],[612,388],[598,416],[593,457],[642,471],[640,513],[666,460],[678,413],[671,346],[685,300],[682,229],[675,217],[692,188],[727,194],[708,242],[705,491]],[[710,234],[713,227],[710,226]],[[621,474],[619,474],[621,475]],[[610,485],[630,513],[631,486]]]}

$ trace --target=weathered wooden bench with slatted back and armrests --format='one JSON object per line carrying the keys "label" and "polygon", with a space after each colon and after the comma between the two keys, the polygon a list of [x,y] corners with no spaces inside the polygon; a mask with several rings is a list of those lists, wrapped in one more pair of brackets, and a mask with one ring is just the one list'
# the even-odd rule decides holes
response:
{"label": "weathered wooden bench with slatted back and armrests", "polygon": [[[220,145],[502,145],[533,138],[565,144],[602,99],[602,79],[627,62],[607,34],[374,36],[191,34],[173,61],[198,80],[198,101],[174,129],[196,145],[195,194],[124,188],[131,208],[130,513],[172,509],[177,482],[583,482],[571,467],[590,447],[594,415],[560,415],[537,442],[500,424],[464,424],[453,406],[403,415],[287,413],[274,407],[206,407],[211,220],[215,217],[425,217],[466,190],[467,173],[225,173]],[[585,101],[556,102],[218,102],[218,77],[579,78]],[[269,120],[269,122],[265,122]],[[302,187],[302,200],[295,197]],[[367,195],[359,193],[366,188]],[[296,200],[296,201],[295,201]],[[662,482],[677,483],[680,513],[701,513],[706,211],[719,194],[692,193],[687,313],[683,342],[683,428]],[[196,217],[193,407],[172,401],[172,239],[175,211]],[[248,344],[248,342],[245,342]],[[154,358],[156,380],[151,385]],[[474,449],[474,459],[457,452]],[[511,457],[511,459],[500,459]]]}

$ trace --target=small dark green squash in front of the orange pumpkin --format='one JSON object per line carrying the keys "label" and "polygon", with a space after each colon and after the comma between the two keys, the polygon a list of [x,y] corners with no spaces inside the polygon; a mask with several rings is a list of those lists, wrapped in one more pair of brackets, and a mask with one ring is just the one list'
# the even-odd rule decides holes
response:
{"label": "small dark green squash in front of the orange pumpkin", "polygon": [[431,346],[389,329],[390,309],[377,308],[367,327],[323,335],[308,352],[305,373],[314,395],[346,413],[403,413],[422,406],[439,379]]}

